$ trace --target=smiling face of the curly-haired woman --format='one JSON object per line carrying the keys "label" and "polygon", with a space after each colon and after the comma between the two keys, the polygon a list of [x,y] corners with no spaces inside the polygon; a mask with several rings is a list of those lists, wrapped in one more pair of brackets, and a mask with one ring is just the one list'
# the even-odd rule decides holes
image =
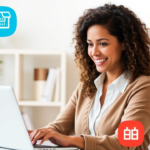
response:
{"label": "smiling face of the curly-haired woman", "polygon": [[123,43],[101,25],[93,25],[87,30],[88,55],[94,61],[98,72],[121,69]]}

